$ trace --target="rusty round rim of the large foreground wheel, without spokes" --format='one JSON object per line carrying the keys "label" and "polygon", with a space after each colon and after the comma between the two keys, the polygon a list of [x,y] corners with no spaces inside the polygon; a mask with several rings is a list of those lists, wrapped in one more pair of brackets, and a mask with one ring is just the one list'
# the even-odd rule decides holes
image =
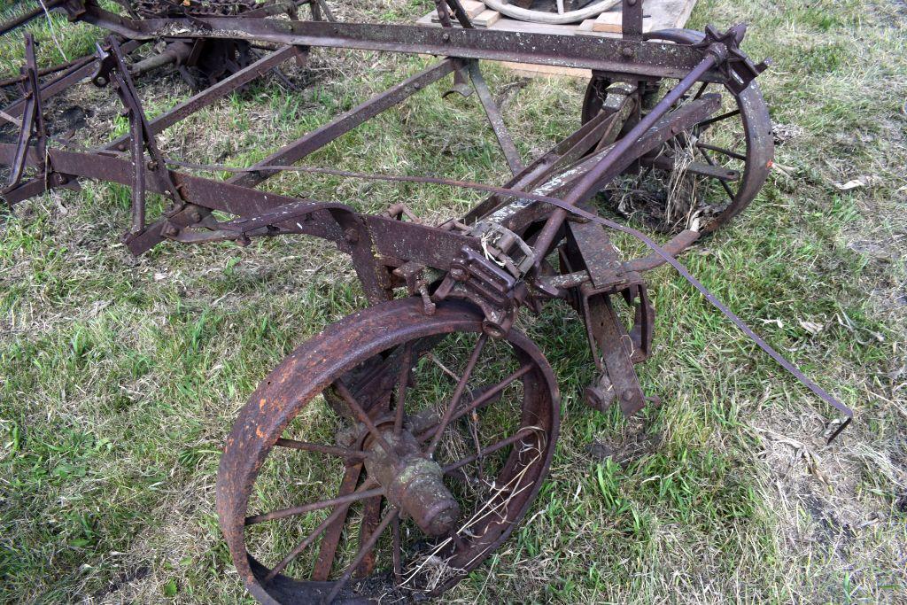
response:
{"label": "rusty round rim of the large foreground wheel, without spokes", "polygon": [[[266,588],[259,579],[268,570],[249,555],[244,539],[244,520],[248,512],[249,495],[258,471],[292,417],[330,384],[331,381],[323,376],[340,376],[380,351],[389,350],[415,338],[453,332],[480,333],[481,322],[482,315],[476,308],[453,301],[439,305],[433,317],[424,315],[422,302],[417,298],[370,307],[327,327],[317,337],[320,346],[309,349],[307,343],[297,348],[259,385],[250,397],[249,404],[240,411],[239,418],[229,435],[224,455],[221,457],[217,485],[217,510],[221,530],[240,576],[256,599],[263,603],[312,602],[312,595],[324,594],[334,584],[334,581],[327,581],[316,585],[317,582],[297,581],[278,575]],[[354,355],[336,358],[321,355],[324,350],[338,349],[341,343],[348,343],[351,338],[363,343],[356,348]],[[543,398],[550,397],[548,405],[551,410],[551,426],[548,429],[546,451],[541,464],[537,466],[532,488],[525,490],[526,496],[519,504],[519,512],[512,517],[509,525],[495,535],[494,541],[484,549],[478,561],[463,569],[462,574],[439,586],[432,594],[440,593],[460,581],[465,572],[481,564],[485,557],[507,539],[537,495],[551,464],[558,434],[560,401],[553,373],[541,356],[541,351],[531,340],[516,331],[512,331],[507,340],[515,350],[522,350],[532,358],[536,369],[531,374],[538,373],[536,379],[547,387],[548,393],[541,394]],[[303,368],[307,376],[315,377],[300,378],[297,370]],[[284,385],[278,385],[274,378],[278,375],[286,376],[285,372],[291,372],[292,377],[286,380]],[[306,387],[302,383],[307,380],[310,384]],[[281,389],[283,395],[278,395]],[[290,395],[286,396],[287,394]],[[272,396],[278,396],[278,399],[269,399]],[[340,602],[357,601],[347,599]],[[366,598],[359,602],[369,600]]]}

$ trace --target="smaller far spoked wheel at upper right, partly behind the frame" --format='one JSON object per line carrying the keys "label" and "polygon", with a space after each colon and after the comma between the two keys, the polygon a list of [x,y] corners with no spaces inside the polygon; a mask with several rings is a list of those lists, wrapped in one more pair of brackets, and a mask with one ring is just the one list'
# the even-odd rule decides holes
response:
{"label": "smaller far spoked wheel at upper right, partly behind the frame", "polygon": [[[696,44],[702,36],[674,29],[651,32],[646,39]],[[675,83],[665,81],[658,89],[643,93],[642,111],[651,109]],[[608,78],[592,78],[583,101],[584,123],[601,111],[609,86]],[[742,93],[716,83],[700,83],[681,103],[716,92],[723,97],[717,113],[643,158],[638,172],[613,183],[607,192],[615,210],[662,232],[710,232],[756,197],[774,156],[766,102],[753,82]]]}

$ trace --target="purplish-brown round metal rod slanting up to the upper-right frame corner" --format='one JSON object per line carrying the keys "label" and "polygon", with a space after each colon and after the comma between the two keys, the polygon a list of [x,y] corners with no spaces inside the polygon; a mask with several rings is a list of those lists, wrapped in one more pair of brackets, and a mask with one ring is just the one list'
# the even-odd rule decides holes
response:
{"label": "purplish-brown round metal rod slanting up to the upper-right frame corner", "polygon": [[[635,153],[635,157],[641,155],[636,146],[639,138],[642,137],[649,129],[655,125],[658,120],[660,120],[673,105],[678,102],[687,91],[692,88],[697,82],[699,82],[702,77],[711,70],[716,64],[716,56],[714,54],[707,54],[703,59],[697,64],[697,66],[680,82],[675,86],[668,94],[666,94],[658,104],[652,108],[652,111],[647,113],[642,120],[640,120],[636,126],[630,129],[627,134],[625,134],[618,142],[610,149],[608,153],[596,164],[589,172],[587,172],[583,178],[577,183],[573,189],[564,197],[563,201],[568,205],[576,205],[584,200],[588,200],[595,191],[600,189],[602,184],[601,181],[604,180],[606,175],[611,171],[612,167],[617,165],[619,161],[623,159],[624,156],[629,155],[630,153]],[[703,97],[705,99],[706,97]],[[701,99],[700,99],[701,100]],[[611,177],[613,178],[613,177]],[[548,255],[548,252],[551,249],[551,244],[554,239],[557,237],[558,231],[561,229],[563,221],[567,219],[567,211],[564,209],[557,209],[551,213],[551,217],[545,222],[545,226],[541,229],[538,239],[535,243],[536,257],[535,257],[535,267],[536,271],[541,266],[541,261]]]}

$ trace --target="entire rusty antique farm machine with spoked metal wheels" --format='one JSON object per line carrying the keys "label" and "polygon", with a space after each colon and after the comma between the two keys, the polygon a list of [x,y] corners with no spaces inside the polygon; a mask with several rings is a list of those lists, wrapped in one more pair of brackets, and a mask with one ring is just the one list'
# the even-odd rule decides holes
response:
{"label": "entire rusty antique farm machine with spoked metal wheels", "polygon": [[[5,83],[22,96],[0,114],[17,132],[15,142],[0,144],[7,204],[77,187],[79,179],[118,182],[132,188],[132,227],[123,240],[134,254],[167,239],[311,235],[349,254],[362,282],[369,307],[288,356],[251,395],[226,441],[220,527],[258,600],[408,600],[438,595],[479,566],[530,508],[558,437],[557,380],[514,327],[517,313],[551,298],[570,301],[597,366],[587,403],[635,414],[647,398],[633,365],[649,356],[654,315],[642,276],[664,263],[844,413],[833,436],[850,421],[847,407],[674,258],[744,210],[771,166],[771,123],[753,82],[765,63],[740,51],[743,26],[642,34],[636,0],[623,1],[621,39],[483,31],[459,0],[438,3],[438,28],[336,23],[323,19],[327,6],[315,0],[305,21],[294,2],[143,0],[124,4],[124,15],[93,0],[46,4],[112,35],[97,54],[44,70],[26,36],[21,75]],[[129,55],[150,41],[157,52],[131,63]],[[260,43],[278,47],[258,56]],[[281,63],[305,62],[315,47],[439,59],[249,168],[200,166],[159,151],[156,134]],[[590,69],[580,128],[523,163],[480,60]],[[133,78],[168,63],[201,90],[150,119]],[[502,186],[294,166],[450,74],[453,91],[474,91],[487,113],[512,171]],[[129,134],[94,149],[52,136],[42,112],[51,96],[86,78],[112,87],[131,124]],[[215,181],[189,170],[236,174]],[[457,220],[429,226],[403,204],[366,215],[256,189],[282,171],[442,184],[488,197]],[[146,216],[149,192],[169,200],[159,216]],[[635,212],[672,237],[658,246],[615,212]],[[609,229],[651,252],[624,258]]]}

